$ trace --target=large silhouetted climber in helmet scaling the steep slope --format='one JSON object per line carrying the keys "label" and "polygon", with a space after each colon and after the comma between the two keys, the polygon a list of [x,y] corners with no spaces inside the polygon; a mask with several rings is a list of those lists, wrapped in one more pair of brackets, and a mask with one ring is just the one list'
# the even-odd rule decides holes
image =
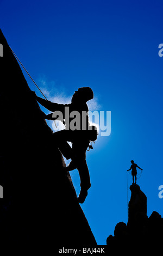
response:
{"label": "large silhouetted climber in helmet scaling the steep slope", "polygon": [[[41,97],[36,96],[35,92],[32,92],[32,93],[35,96],[35,99],[43,107],[47,108],[49,111],[52,111],[54,113],[55,111],[60,111],[63,115],[66,129],[58,132],[54,132],[52,143],[54,142],[55,145],[57,145],[62,155],[64,155],[67,160],[71,159],[71,162],[68,165],[68,167],[66,167],[66,169],[68,171],[76,168],[78,169],[79,176],[80,176],[80,187],[81,187],[79,197],[78,197],[78,202],[84,203],[85,198],[87,196],[87,190],[89,190],[89,188],[91,187],[89,169],[86,163],[86,149],[89,146],[90,141],[92,141],[92,139],[90,139],[90,136],[92,136],[92,132],[96,132],[96,136],[97,136],[96,129],[94,129],[94,131],[89,130],[89,128],[92,126],[90,126],[89,124],[89,117],[87,113],[89,109],[86,104],[87,101],[93,99],[93,91],[90,87],[79,88],[73,94],[71,103],[65,104],[65,105],[44,100]],[[80,113],[80,129],[79,127],[78,127],[78,130],[67,129],[67,127],[70,127],[72,118],[66,117],[65,107],[68,107],[68,110],[70,113],[73,111],[77,111],[78,113]],[[82,113],[83,112],[86,113],[86,129],[85,130],[82,130],[82,127],[83,127]],[[54,120],[52,115],[53,113],[48,115],[43,113],[43,118]],[[72,143],[72,148],[67,142]]]}

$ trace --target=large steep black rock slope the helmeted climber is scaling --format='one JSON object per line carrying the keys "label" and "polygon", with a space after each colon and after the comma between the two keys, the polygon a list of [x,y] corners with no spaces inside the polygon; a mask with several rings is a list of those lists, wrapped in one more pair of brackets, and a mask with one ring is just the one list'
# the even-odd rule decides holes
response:
{"label": "large steep black rock slope the helmeted climber is scaling", "polygon": [[[96,246],[52,130],[42,119],[2,31],[1,243],[43,248]],[[48,254],[47,254],[48,255]]]}

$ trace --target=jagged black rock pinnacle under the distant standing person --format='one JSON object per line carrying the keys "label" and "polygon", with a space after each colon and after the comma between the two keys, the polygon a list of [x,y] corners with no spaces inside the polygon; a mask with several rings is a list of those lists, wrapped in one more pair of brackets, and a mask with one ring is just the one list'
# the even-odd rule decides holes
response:
{"label": "jagged black rock pinnacle under the distant standing person", "polygon": [[153,211],[147,216],[147,197],[140,190],[140,186],[130,186],[131,198],[128,208],[128,223],[120,222],[116,225],[114,236],[110,235],[106,243],[108,253],[151,252],[161,248],[163,240],[163,218]]}

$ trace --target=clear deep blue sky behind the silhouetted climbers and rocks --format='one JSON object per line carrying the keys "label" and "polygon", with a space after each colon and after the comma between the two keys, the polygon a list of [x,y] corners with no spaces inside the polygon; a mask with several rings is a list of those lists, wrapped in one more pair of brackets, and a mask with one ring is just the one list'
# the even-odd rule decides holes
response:
{"label": "clear deep blue sky behind the silhouetted climbers and rocks", "polygon": [[[81,205],[97,243],[127,222],[130,160],[143,168],[137,183],[148,216],[163,215],[162,1],[1,0],[0,8],[2,32],[48,99],[67,103],[74,90],[90,86],[91,107],[111,111],[111,135],[99,136],[87,153],[92,186]],[[78,194],[77,170],[71,175]]]}

